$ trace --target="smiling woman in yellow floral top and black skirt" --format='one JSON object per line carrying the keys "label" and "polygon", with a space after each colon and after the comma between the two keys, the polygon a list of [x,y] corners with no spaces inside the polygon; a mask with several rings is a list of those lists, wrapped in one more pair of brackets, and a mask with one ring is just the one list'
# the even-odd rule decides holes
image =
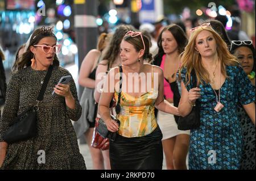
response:
{"label": "smiling woman in yellow floral top and black skirt", "polygon": [[[152,60],[149,41],[141,32],[129,31],[120,48],[122,90],[119,92],[119,69],[109,71],[99,102],[99,113],[108,130],[117,132],[110,141],[112,169],[162,169],[162,132],[156,122],[154,107],[179,115],[177,108],[163,97],[163,71],[158,66],[144,64]],[[120,125],[112,120],[109,104],[121,94]]]}

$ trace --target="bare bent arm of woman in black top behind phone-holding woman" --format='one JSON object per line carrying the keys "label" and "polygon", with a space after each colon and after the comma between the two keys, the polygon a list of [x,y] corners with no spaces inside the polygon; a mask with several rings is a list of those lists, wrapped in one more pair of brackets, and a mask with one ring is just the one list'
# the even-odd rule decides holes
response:
{"label": "bare bent arm of woman in black top behind phone-holding woman", "polygon": [[95,81],[89,78],[90,73],[94,68],[95,61],[100,57],[101,52],[97,49],[90,50],[84,60],[79,71],[79,85],[88,88],[94,88]]}

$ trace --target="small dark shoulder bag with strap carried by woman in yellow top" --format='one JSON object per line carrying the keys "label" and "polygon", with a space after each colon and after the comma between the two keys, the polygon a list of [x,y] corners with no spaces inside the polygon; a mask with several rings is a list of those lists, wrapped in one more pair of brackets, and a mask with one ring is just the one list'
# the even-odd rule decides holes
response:
{"label": "small dark shoulder bag with strap carried by woman in yellow top", "polygon": [[[120,113],[121,111],[121,106],[120,106],[120,99],[121,99],[121,91],[122,91],[122,66],[119,65],[119,73],[120,73],[120,77],[119,77],[119,91],[118,91],[118,101],[117,101],[117,105],[115,106],[115,112],[117,114]],[[110,115],[112,117],[113,120],[117,121],[118,125],[120,124],[120,121],[113,115]],[[106,124],[104,123],[104,121],[102,119],[100,119],[98,121],[98,127],[96,127],[96,131],[98,132],[98,134],[100,134],[100,136],[102,136],[103,138],[109,138],[109,140],[114,141],[115,140],[115,136],[117,136],[117,132],[110,132],[108,130],[108,128],[106,127]]]}

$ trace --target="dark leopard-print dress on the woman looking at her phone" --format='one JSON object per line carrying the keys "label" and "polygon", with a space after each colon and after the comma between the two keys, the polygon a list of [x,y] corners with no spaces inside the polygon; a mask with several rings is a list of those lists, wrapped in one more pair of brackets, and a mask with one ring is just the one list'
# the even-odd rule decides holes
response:
{"label": "dark leopard-print dress on the woman looking at her phone", "polygon": [[[10,120],[35,104],[46,73],[47,70],[34,70],[29,66],[12,75],[0,122],[0,142]],[[71,74],[64,68],[53,68],[44,98],[39,103],[37,136],[9,144],[0,169],[86,169],[71,123],[81,116],[75,82],[72,79],[69,84],[75,99],[74,110],[66,106],[63,96],[52,95],[53,87],[64,75]]]}

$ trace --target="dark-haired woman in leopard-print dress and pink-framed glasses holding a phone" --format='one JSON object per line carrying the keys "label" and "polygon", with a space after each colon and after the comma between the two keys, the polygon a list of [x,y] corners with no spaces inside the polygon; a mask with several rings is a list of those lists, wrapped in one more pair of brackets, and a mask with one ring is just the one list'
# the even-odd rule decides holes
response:
{"label": "dark-haired woman in leopard-print dress and pink-framed glasses holding a phone", "polygon": [[[52,29],[35,30],[18,72],[10,79],[0,122],[0,169],[86,169],[71,123],[80,118],[81,106],[73,79],[69,85],[58,84],[62,76],[71,74],[59,67],[56,40]],[[53,71],[37,111],[37,136],[7,144],[3,134],[10,120],[35,105],[51,65]],[[52,95],[53,90],[57,95]]]}

